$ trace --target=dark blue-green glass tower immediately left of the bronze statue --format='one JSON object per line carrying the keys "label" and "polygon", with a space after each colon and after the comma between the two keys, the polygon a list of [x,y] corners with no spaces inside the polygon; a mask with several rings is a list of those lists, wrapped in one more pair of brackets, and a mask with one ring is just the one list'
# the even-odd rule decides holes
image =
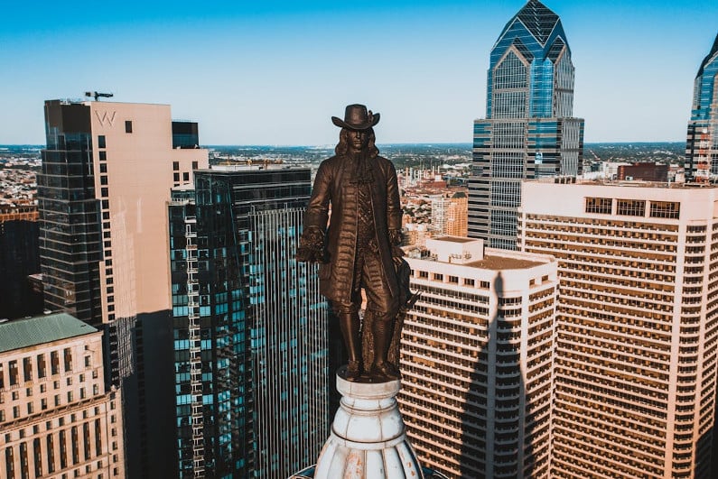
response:
{"label": "dark blue-green glass tower immediately left of the bronze statue", "polygon": [[285,479],[329,434],[327,311],[294,259],[303,168],[214,167],[169,207],[180,477]]}

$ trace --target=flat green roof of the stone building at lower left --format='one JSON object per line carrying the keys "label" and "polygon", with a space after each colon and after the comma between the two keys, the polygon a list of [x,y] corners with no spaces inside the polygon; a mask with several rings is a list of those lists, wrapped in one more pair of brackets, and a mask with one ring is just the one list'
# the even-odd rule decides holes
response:
{"label": "flat green roof of the stone building at lower left", "polygon": [[67,313],[14,319],[0,323],[0,353],[70,337],[89,335],[97,331],[97,328],[91,327]]}

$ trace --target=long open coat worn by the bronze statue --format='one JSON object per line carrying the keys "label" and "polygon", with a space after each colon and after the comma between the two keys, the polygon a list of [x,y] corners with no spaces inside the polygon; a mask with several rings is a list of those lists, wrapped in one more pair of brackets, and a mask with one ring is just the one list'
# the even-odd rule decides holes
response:
{"label": "long open coat worn by the bronze statue", "polygon": [[[401,204],[394,164],[380,156],[368,158],[374,226],[384,276],[393,297],[398,294],[392,263],[388,230],[401,229]],[[357,248],[359,211],[358,185],[354,179],[355,162],[332,156],[322,161],[314,179],[312,198],[304,213],[304,229],[327,226],[331,204],[331,223],[327,230],[329,263],[320,264],[320,292],[331,301],[350,303]]]}

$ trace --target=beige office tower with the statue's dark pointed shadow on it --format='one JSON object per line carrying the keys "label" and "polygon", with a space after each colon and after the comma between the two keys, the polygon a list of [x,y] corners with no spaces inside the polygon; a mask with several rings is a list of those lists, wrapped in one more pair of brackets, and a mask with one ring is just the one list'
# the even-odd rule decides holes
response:
{"label": "beige office tower with the statue's dark pointed shadow on it", "polygon": [[399,404],[424,465],[449,477],[548,477],[556,262],[426,240],[408,257]]}

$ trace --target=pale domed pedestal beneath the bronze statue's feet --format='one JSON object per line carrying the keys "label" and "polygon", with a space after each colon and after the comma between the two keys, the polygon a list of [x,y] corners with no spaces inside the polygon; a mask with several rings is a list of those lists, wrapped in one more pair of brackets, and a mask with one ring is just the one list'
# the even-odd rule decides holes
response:
{"label": "pale domed pedestal beneath the bronze statue's feet", "polygon": [[421,479],[396,404],[401,382],[349,382],[337,374],[340,408],[314,479]]}

